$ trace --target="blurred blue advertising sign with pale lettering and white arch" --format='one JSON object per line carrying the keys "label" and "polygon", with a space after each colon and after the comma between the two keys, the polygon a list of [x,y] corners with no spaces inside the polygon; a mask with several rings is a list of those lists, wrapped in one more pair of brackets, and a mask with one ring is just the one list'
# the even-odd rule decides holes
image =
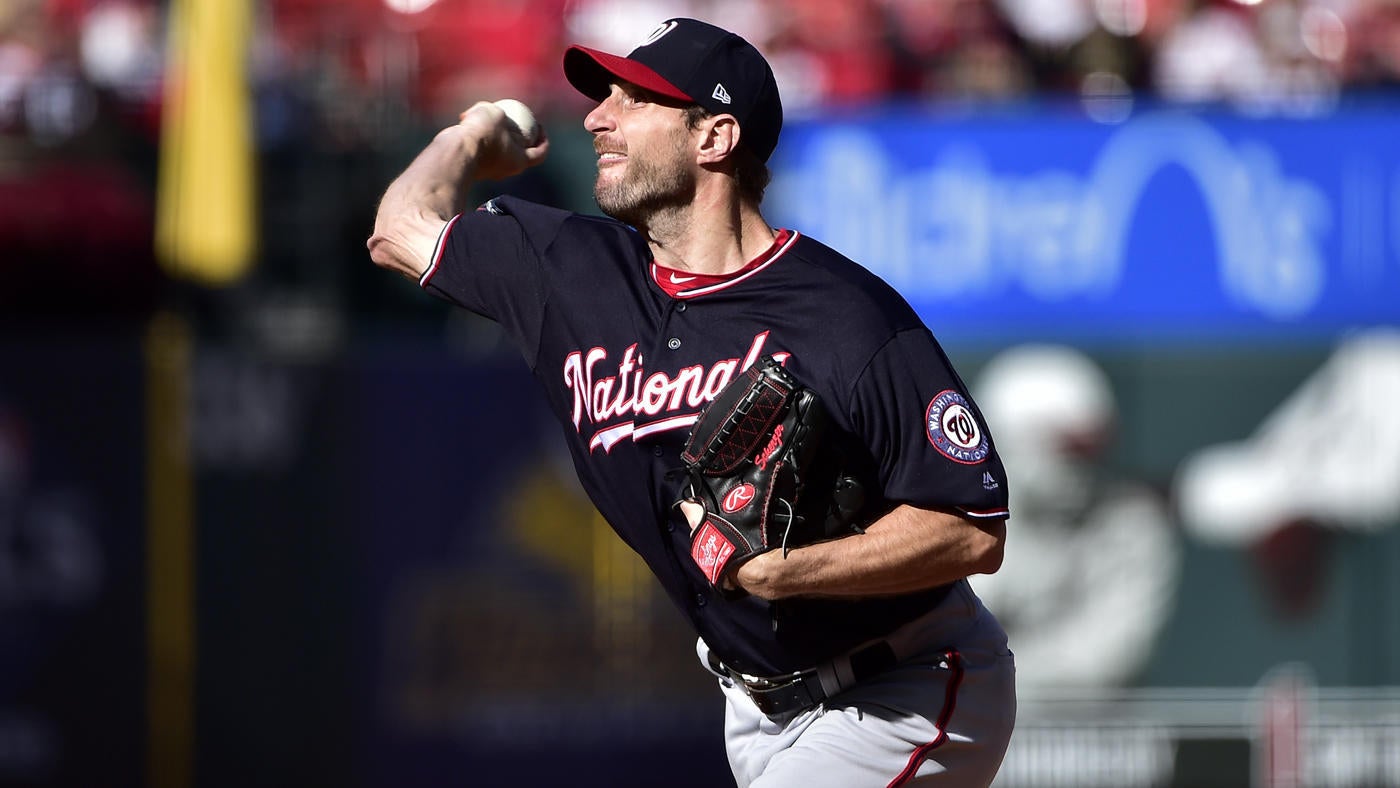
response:
{"label": "blurred blue advertising sign with pale lettering and white arch", "polygon": [[794,119],[767,213],[941,337],[1324,339],[1400,323],[1400,104],[1324,119]]}

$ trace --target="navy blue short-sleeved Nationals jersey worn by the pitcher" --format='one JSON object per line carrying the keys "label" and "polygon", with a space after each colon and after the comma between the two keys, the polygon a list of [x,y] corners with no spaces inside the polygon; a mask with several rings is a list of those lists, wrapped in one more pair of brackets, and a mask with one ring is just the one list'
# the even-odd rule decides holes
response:
{"label": "navy blue short-sleeved Nationals jersey worn by the pitcher", "polygon": [[[799,670],[928,610],[946,586],[830,600],[715,592],[672,507],[696,414],[773,354],[813,388],[881,511],[909,502],[1007,516],[1007,479],[981,414],[932,333],[882,280],[784,232],[738,276],[662,273],[613,220],[511,197],[444,230],[421,284],[498,322],[559,417],[598,511],[729,666]],[[673,276],[666,288],[659,276]]]}

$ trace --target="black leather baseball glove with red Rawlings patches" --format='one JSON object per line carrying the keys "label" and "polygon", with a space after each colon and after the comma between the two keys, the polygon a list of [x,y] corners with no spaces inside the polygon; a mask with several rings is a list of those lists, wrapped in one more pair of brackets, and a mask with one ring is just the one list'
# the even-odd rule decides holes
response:
{"label": "black leather baseball glove with red Rawlings patches", "polygon": [[860,530],[861,488],[840,472],[827,428],[816,393],[771,356],[700,411],[676,505],[690,509],[690,557],[713,585],[759,553]]}

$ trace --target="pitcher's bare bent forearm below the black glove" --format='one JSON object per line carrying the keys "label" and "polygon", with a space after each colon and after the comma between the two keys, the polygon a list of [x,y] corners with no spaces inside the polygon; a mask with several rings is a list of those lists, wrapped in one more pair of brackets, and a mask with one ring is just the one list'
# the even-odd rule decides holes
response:
{"label": "pitcher's bare bent forearm below the black glove", "polygon": [[770,550],[734,572],[763,599],[890,596],[945,585],[1001,567],[1005,518],[973,519],[900,505],[855,533],[805,547]]}

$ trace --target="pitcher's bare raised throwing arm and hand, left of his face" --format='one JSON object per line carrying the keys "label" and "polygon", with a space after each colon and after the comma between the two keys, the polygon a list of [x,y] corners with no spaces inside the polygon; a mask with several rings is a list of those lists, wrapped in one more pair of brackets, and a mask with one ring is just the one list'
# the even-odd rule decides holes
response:
{"label": "pitcher's bare raised throwing arm and hand, left of his face", "polygon": [[545,161],[549,140],[526,147],[501,108],[483,101],[438,132],[379,200],[370,259],[417,280],[433,262],[442,228],[465,210],[475,181],[498,181]]}

